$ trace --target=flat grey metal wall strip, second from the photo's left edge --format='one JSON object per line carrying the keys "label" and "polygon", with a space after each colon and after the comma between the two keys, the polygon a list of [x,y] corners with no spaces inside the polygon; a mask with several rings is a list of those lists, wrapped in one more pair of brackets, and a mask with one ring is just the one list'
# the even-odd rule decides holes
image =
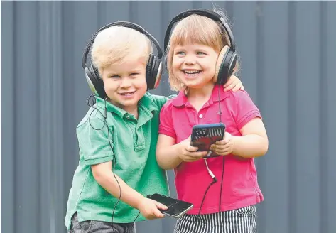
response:
{"label": "flat grey metal wall strip, second from the photo's left edge", "polygon": [[[40,219],[40,78],[38,69],[38,37],[36,25],[40,12],[38,2],[14,3],[14,80],[13,108],[14,141],[13,155],[16,232],[32,227],[37,229]],[[7,77],[9,78],[9,77]],[[51,104],[51,103],[48,103]],[[51,156],[51,155],[50,155]],[[47,174],[43,174],[47,175]],[[45,177],[45,176],[44,176]],[[46,177],[45,177],[46,178]],[[46,180],[43,180],[45,182]],[[49,181],[49,180],[48,180]],[[50,182],[50,181],[49,181]],[[31,212],[36,212],[32,215]]]}

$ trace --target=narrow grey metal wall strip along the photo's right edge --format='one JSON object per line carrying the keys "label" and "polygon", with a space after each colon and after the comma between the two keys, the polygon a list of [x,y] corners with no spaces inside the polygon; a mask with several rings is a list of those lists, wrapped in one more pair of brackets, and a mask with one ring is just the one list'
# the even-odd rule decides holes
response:
{"label": "narrow grey metal wall strip along the photo's right edge", "polygon": [[335,2],[323,2],[320,16],[321,31],[321,207],[323,208],[321,218],[322,232],[334,232],[336,229],[336,4]]}

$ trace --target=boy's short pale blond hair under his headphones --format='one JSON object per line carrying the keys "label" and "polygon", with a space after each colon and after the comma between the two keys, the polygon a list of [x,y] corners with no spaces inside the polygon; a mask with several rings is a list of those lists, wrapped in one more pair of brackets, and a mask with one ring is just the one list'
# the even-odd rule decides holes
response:
{"label": "boy's short pale blond hair under his headphones", "polygon": [[99,74],[109,66],[122,63],[129,58],[139,58],[148,63],[153,53],[151,40],[132,28],[112,26],[100,31],[92,45],[92,65],[97,67]]}

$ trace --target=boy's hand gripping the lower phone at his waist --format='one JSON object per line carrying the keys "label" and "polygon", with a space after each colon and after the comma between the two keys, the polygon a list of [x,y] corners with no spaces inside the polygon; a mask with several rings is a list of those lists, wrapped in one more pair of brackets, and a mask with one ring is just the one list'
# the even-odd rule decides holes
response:
{"label": "boy's hand gripping the lower phone at his waist", "polygon": [[160,210],[167,210],[168,207],[166,205],[157,202],[156,200],[151,200],[149,198],[144,198],[141,200],[138,210],[140,210],[141,214],[146,217],[148,220],[154,220],[156,218],[164,217]]}

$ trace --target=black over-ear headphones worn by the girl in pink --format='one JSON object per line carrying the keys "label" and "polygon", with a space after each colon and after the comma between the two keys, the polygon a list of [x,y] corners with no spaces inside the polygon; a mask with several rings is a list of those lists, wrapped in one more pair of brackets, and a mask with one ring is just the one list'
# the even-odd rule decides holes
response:
{"label": "black over-ear headphones worn by the girl in pink", "polygon": [[[236,45],[234,44],[234,36],[232,34],[231,29],[225,22],[224,18],[220,16],[220,14],[215,13],[214,11],[203,10],[203,9],[190,9],[188,11],[184,11],[178,16],[175,16],[169,23],[169,26],[166,30],[165,41],[164,41],[164,49],[168,54],[167,48],[169,48],[169,40],[170,40],[170,31],[172,30],[175,23],[181,21],[183,18],[187,18],[192,14],[197,14],[199,16],[205,16],[207,18],[211,18],[213,21],[220,23],[220,28],[224,29],[229,36],[230,45],[224,46],[220,51],[220,55],[218,55],[217,63],[216,63],[216,72],[214,80],[217,84],[224,84],[227,82],[228,77],[232,75],[234,67],[237,63],[237,53],[236,53]],[[167,65],[167,63],[166,63]]]}

